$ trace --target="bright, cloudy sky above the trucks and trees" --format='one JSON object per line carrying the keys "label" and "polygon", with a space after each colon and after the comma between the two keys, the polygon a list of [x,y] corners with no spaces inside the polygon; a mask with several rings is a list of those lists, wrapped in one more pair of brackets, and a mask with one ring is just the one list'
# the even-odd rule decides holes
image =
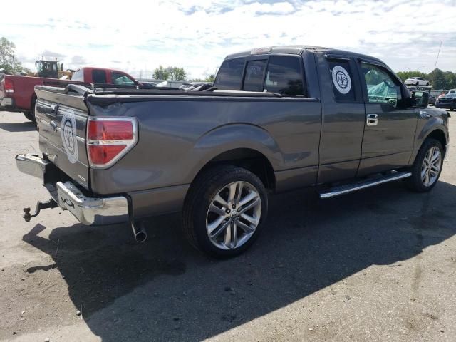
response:
{"label": "bright, cloudy sky above the trucks and trees", "polygon": [[24,66],[58,58],[64,68],[98,66],[150,78],[157,66],[188,78],[215,72],[230,53],[276,45],[343,48],[394,71],[456,72],[456,0],[46,0],[14,2],[0,36]]}

